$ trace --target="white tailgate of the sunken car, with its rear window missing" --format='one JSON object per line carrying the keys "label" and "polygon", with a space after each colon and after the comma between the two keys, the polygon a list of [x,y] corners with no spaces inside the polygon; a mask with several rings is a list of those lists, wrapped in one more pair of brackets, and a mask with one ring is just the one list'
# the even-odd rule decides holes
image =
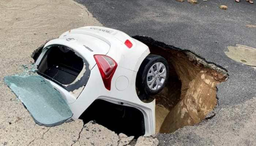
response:
{"label": "white tailgate of the sunken car, with its rear window missing", "polygon": [[87,84],[91,69],[96,64],[94,55],[107,54],[109,49],[108,43],[98,38],[70,34],[47,42],[35,65],[38,73],[71,104]]}

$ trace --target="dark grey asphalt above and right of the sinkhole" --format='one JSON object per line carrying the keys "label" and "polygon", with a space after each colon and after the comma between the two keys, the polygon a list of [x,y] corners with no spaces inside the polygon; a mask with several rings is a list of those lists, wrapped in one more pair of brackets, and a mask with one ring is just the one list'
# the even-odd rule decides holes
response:
{"label": "dark grey asphalt above and right of the sinkhole", "polygon": [[[256,48],[256,5],[245,0],[76,0],[104,26],[191,50],[222,66],[229,79],[218,85],[218,106],[198,125],[158,134],[159,145],[256,145],[256,69],[225,55],[236,44]],[[226,5],[226,10],[220,9]]]}

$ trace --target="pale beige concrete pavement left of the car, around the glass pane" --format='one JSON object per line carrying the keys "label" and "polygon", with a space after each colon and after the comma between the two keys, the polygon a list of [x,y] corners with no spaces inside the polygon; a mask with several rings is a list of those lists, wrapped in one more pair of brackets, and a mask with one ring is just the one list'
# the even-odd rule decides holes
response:
{"label": "pale beige concrete pavement left of the car, around the glass pane", "polygon": [[[67,9],[71,10],[67,12]],[[22,65],[33,62],[31,53],[45,41],[71,28],[85,25],[101,23],[84,6],[72,0],[1,1],[0,146],[70,146],[79,138],[82,120],[50,128],[36,124],[4,84],[4,77],[23,72]]]}

